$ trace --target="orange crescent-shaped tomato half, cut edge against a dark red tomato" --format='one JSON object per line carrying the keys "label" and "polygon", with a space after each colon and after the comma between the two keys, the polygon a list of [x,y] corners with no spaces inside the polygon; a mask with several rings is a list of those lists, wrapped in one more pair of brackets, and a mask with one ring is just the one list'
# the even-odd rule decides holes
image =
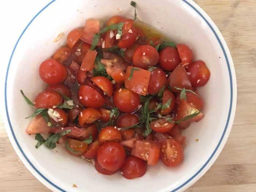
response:
{"label": "orange crescent-shaped tomato half, cut edge against a dark red tomato", "polygon": [[113,84],[111,81],[103,76],[95,76],[91,78],[91,81],[96,84],[101,90],[106,93],[109,97],[113,94]]}

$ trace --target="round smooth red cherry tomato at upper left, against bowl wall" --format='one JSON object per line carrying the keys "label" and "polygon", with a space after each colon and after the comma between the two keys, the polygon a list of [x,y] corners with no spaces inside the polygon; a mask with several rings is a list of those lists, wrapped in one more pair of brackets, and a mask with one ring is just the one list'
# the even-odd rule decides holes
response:
{"label": "round smooth red cherry tomato at upper left, against bowl wall", "polygon": [[67,68],[54,59],[48,59],[41,63],[39,67],[41,79],[50,85],[64,82],[67,79]]}

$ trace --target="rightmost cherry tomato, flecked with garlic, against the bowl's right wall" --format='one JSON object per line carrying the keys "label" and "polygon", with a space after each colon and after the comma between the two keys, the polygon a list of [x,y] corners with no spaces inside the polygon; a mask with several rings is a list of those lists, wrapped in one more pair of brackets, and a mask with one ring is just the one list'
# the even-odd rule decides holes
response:
{"label": "rightmost cherry tomato, flecked with garlic, against the bowl's right wall", "polygon": [[211,72],[203,61],[195,61],[188,66],[189,80],[194,87],[206,85],[210,79]]}

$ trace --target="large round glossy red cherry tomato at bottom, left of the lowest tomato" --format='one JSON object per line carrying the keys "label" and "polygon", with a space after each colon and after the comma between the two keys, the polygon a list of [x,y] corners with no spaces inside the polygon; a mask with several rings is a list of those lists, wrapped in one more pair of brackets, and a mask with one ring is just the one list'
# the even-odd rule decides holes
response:
{"label": "large round glossy red cherry tomato at bottom, left of the lowest tomato", "polygon": [[124,147],[116,141],[103,143],[99,147],[97,160],[103,168],[116,171],[121,168],[125,161]]}

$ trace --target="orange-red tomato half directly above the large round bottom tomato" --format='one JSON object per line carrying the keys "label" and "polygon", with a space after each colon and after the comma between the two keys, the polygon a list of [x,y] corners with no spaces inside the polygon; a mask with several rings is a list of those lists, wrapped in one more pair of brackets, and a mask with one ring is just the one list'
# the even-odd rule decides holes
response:
{"label": "orange-red tomato half directly above the large round bottom tomato", "polygon": [[99,132],[99,143],[104,143],[106,141],[121,141],[122,136],[120,131],[118,131],[117,128],[114,128],[113,126],[104,127]]}

